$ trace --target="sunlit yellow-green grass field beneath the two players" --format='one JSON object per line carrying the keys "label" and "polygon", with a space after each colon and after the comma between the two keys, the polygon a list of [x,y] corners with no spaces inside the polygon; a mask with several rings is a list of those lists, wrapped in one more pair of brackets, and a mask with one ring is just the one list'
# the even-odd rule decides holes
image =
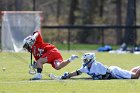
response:
{"label": "sunlit yellow-green grass field beneath the two players", "polygon": [[[64,59],[71,54],[86,52],[62,51]],[[117,65],[131,69],[140,64],[140,55],[96,53],[97,61],[108,66]],[[74,71],[81,66],[81,59],[56,71],[49,64],[44,65],[43,80],[30,81],[28,74],[29,53],[0,53],[0,93],[140,93],[140,80],[91,80],[82,74],[69,80],[50,80],[47,73],[61,75],[65,71]],[[6,70],[3,71],[2,68]]]}

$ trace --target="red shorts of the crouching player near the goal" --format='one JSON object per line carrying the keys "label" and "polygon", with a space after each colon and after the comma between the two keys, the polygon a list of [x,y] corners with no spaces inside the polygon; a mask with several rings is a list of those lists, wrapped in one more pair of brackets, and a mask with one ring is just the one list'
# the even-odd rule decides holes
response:
{"label": "red shorts of the crouching player near the goal", "polygon": [[53,68],[55,68],[56,65],[59,65],[63,61],[61,53],[57,48],[48,50],[45,54],[42,55],[42,58],[45,57],[47,58],[46,62],[51,64]]}

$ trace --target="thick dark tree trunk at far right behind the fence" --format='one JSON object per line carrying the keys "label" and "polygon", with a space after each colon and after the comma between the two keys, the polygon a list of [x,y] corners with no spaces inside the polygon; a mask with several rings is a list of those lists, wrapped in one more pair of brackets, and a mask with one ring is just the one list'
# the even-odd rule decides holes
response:
{"label": "thick dark tree trunk at far right behind the fence", "polygon": [[[136,21],[136,0],[128,0],[126,25],[133,26]],[[126,44],[134,45],[136,42],[136,31],[132,28],[126,28],[124,41]]]}

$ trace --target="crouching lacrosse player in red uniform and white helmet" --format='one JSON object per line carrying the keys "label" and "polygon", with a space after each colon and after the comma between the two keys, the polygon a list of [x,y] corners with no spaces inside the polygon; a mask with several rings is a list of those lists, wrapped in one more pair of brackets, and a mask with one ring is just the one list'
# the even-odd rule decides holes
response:
{"label": "crouching lacrosse player in red uniform and white helmet", "polygon": [[30,35],[23,40],[23,48],[32,53],[35,58],[33,67],[36,67],[37,73],[31,80],[42,79],[41,72],[45,63],[51,64],[56,70],[60,70],[78,58],[77,55],[72,55],[67,60],[63,60],[60,51],[53,44],[45,43],[39,31],[35,31],[32,36]]}

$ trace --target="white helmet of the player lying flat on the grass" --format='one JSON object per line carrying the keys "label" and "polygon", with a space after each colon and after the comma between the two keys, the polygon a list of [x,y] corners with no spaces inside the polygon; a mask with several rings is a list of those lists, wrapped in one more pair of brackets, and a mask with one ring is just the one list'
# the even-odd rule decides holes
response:
{"label": "white helmet of the player lying flat on the grass", "polygon": [[83,63],[94,62],[95,61],[95,53],[85,53],[82,56]]}

